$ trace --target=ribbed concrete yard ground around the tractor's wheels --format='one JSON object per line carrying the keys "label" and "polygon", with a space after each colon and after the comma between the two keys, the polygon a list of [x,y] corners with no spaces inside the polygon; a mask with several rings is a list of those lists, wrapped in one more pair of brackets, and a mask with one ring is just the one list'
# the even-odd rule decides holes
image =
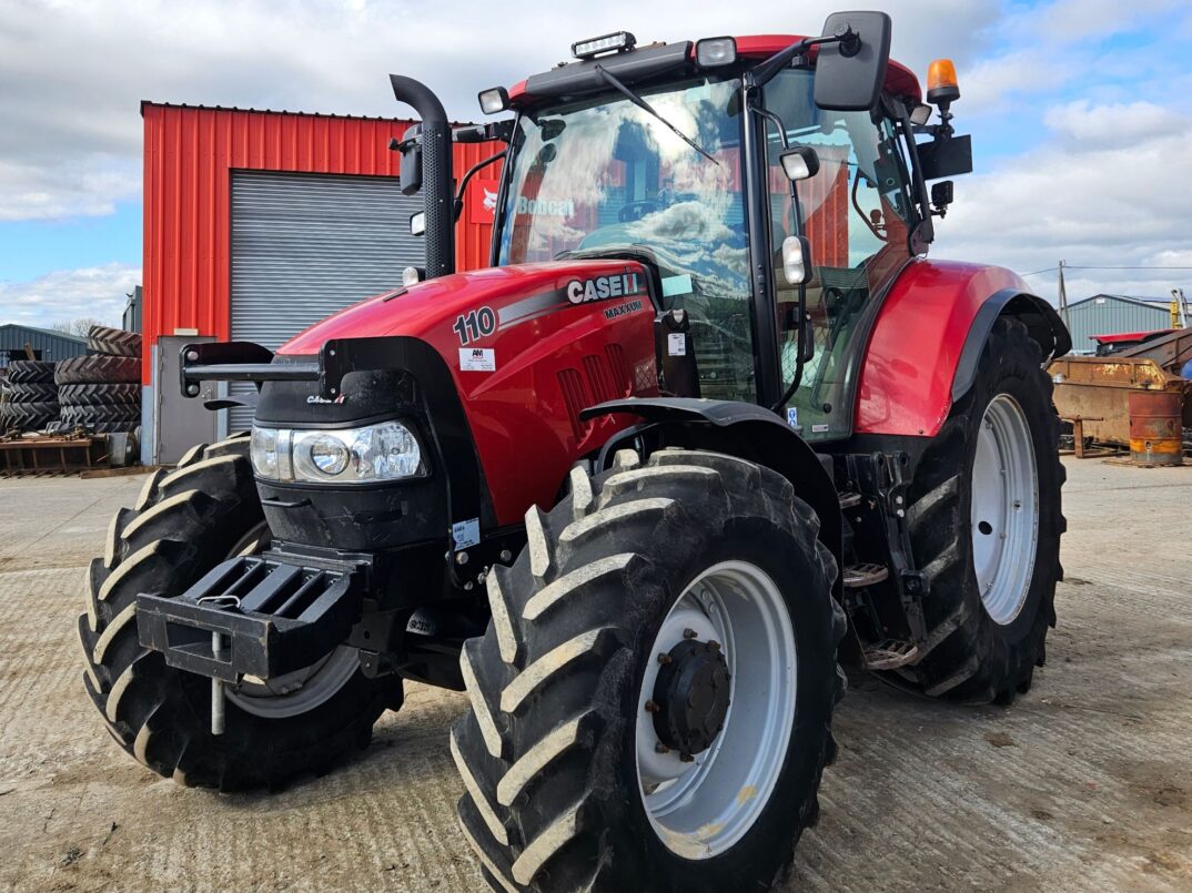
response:
{"label": "ribbed concrete yard ground around the tractor's wheels", "polygon": [[[875,683],[790,889],[1192,889],[1192,468],[1068,461],[1068,580],[1035,687],[957,708]],[[142,479],[0,481],[0,888],[482,889],[447,729],[416,685],[368,751],[278,794],[142,769],[83,694],[83,568]]]}

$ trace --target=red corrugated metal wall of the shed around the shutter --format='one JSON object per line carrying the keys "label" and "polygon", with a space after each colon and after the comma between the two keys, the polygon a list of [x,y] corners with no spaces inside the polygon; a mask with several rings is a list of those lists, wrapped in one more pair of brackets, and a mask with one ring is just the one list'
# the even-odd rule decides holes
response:
{"label": "red corrugated metal wall of the shed around the shutter", "polygon": [[[144,118],[144,335],[197,329],[230,337],[231,174],[283,170],[397,176],[390,137],[403,120],[190,108],[147,102]],[[455,146],[457,176],[498,150]],[[496,177],[499,163],[485,171]],[[406,226],[403,221],[402,226]],[[457,266],[489,263],[492,227],[465,214],[457,227]],[[150,363],[142,364],[145,383]]]}

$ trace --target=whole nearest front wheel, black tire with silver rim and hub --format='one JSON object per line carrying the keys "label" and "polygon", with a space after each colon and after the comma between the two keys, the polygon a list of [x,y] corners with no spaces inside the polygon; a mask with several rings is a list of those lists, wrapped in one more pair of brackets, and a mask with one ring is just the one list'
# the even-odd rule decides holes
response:
{"label": "whole nearest front wheel, black tire with silver rim and hub", "polygon": [[622,450],[526,520],[452,730],[489,883],[769,888],[818,816],[844,693],[814,513],[750,462]]}

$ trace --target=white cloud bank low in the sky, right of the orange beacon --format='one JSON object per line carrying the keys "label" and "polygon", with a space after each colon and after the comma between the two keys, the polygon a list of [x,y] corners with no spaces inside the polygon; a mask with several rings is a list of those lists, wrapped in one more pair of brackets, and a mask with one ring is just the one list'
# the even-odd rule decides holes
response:
{"label": "white cloud bank low in the sky, right of the orange beacon", "polygon": [[[1061,258],[1078,267],[1192,266],[1192,180],[1182,174],[1192,119],[1144,102],[1086,101],[1045,118],[1051,139],[957,181],[956,205],[937,225],[937,254],[1019,271]],[[1184,283],[1192,285],[1192,270],[1074,270],[1068,294],[1166,295]]]}

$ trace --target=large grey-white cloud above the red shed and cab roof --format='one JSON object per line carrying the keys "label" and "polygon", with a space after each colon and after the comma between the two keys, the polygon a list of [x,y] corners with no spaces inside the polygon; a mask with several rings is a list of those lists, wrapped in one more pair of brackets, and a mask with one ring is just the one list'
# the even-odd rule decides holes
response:
{"label": "large grey-white cloud above the red shed and cab roof", "polygon": [[[628,29],[641,43],[722,33],[815,32],[836,0],[725,8],[681,0],[600,5],[479,0],[7,0],[0,17],[0,219],[110,213],[136,199],[138,102],[401,117],[385,75],[439,92],[458,119],[476,93],[565,58],[572,42]],[[999,0],[899,0],[894,52],[921,71],[987,43]],[[960,6],[960,8],[956,8]]]}

